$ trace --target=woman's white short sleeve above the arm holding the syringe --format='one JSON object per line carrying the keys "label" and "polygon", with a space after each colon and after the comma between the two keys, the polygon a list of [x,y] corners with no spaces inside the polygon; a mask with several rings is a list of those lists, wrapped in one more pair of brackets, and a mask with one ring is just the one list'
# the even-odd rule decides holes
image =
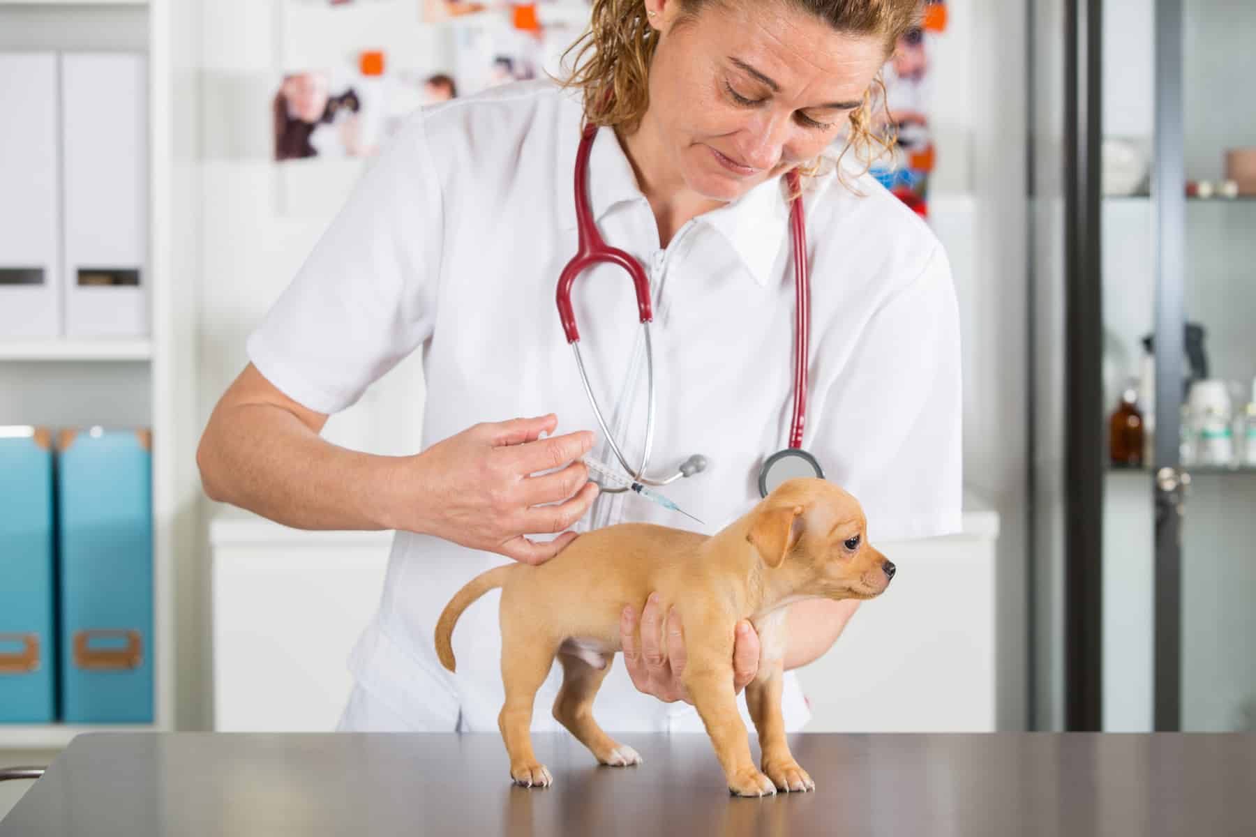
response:
{"label": "woman's white short sleeve above the arm holding the syringe", "polygon": [[257,370],[309,409],[352,405],[432,334],[443,217],[425,118],[368,163],[249,338]]}

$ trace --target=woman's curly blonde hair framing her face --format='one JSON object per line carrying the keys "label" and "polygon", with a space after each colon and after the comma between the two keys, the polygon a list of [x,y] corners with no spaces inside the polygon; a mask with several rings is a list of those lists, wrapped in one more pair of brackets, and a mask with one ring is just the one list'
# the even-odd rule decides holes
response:
{"label": "woman's curly blonde hair framing her face", "polygon": [[[723,0],[678,0],[681,20],[693,19],[712,3]],[[759,1],[759,0],[751,0]],[[790,3],[824,20],[834,30],[850,35],[878,35],[887,59],[898,39],[919,25],[923,0],[779,0]],[[563,65],[573,68],[558,79],[565,88],[584,92],[584,117],[597,125],[612,125],[627,134],[637,131],[649,107],[649,64],[658,34],[647,21],[644,0],[593,0],[589,28],[563,54]],[[864,93],[863,104],[850,113],[850,129],[838,162],[850,149],[867,171],[894,147],[894,136],[873,129],[873,112],[885,107],[885,83],[877,74]],[[893,124],[893,120],[889,120]],[[799,167],[804,177],[820,173],[823,158]]]}

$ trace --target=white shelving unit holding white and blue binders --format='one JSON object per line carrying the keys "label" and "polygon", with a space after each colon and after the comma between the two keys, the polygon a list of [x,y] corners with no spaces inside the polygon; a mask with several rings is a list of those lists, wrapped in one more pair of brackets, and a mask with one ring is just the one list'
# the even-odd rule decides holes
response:
{"label": "white shelving unit holding white and blue binders", "polygon": [[[177,727],[180,565],[195,560],[195,277],[198,182],[191,125],[200,0],[0,0],[0,50],[138,50],[148,68],[149,336],[128,340],[4,340],[0,424],[103,424],[142,418],[153,428],[153,723],[144,725],[0,724],[0,752],[59,749],[80,733]],[[185,144],[187,147],[185,147]],[[67,397],[65,393],[70,395]],[[126,403],[123,403],[126,402]],[[28,418],[34,417],[34,418]],[[186,590],[186,581],[181,585]]]}

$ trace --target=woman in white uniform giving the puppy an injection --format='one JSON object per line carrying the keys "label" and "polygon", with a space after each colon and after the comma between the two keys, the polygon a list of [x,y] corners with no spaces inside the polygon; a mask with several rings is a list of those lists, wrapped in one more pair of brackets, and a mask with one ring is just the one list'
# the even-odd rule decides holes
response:
{"label": "woman in white uniform giving the puppy an injection", "polygon": [[[303,528],[397,531],[378,612],[349,663],[342,729],[495,730],[497,594],[458,622],[453,675],[432,644],[453,592],[505,561],[544,561],[590,528],[698,527],[634,493],[599,493],[578,461],[617,462],[555,306],[578,247],[573,172],[585,123],[600,125],[589,213],[649,279],[648,474],[676,473],[696,453],[708,462],[663,493],[713,533],[759,502],[765,457],[788,447],[798,307],[782,176],[799,169],[811,312],[801,447],[863,503],[874,543],[957,531],[950,267],[929,230],[859,164],[875,151],[874,79],[917,5],[594,0],[565,87],[511,84],[431,107],[373,161],[249,339],[251,363],[197,454],[215,499]],[[632,282],[595,267],[571,300],[594,394],[636,463],[647,369]],[[367,456],[318,435],[416,350],[422,452]],[[786,669],[828,650],[854,610],[791,605]],[[682,640],[659,636],[661,616],[624,616],[629,653],[597,700],[608,730],[702,729],[662,660]],[[739,688],[757,655],[756,636],[740,634]],[[558,729],[559,675],[555,666],[538,693],[534,729]],[[786,728],[801,728],[809,712],[793,673],[782,703]]]}

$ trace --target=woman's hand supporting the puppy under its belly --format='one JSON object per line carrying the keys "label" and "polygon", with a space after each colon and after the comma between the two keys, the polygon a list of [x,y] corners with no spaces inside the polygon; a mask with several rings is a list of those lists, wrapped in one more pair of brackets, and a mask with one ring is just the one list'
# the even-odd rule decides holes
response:
{"label": "woman's hand supporting the puppy under its belly", "polygon": [[[637,632],[637,611],[632,605],[619,615],[619,641],[623,644],[628,676],[638,690],[654,695],[664,703],[683,700],[692,704],[681,674],[685,671],[685,627],[673,607],[667,617],[667,636],[663,636],[663,612],[658,594],[651,594],[646,610],[641,614],[641,634]],[[732,648],[732,688],[741,694],[746,684],[759,673],[759,634],[747,620],[737,622]],[[638,641],[639,636],[639,641]]]}

